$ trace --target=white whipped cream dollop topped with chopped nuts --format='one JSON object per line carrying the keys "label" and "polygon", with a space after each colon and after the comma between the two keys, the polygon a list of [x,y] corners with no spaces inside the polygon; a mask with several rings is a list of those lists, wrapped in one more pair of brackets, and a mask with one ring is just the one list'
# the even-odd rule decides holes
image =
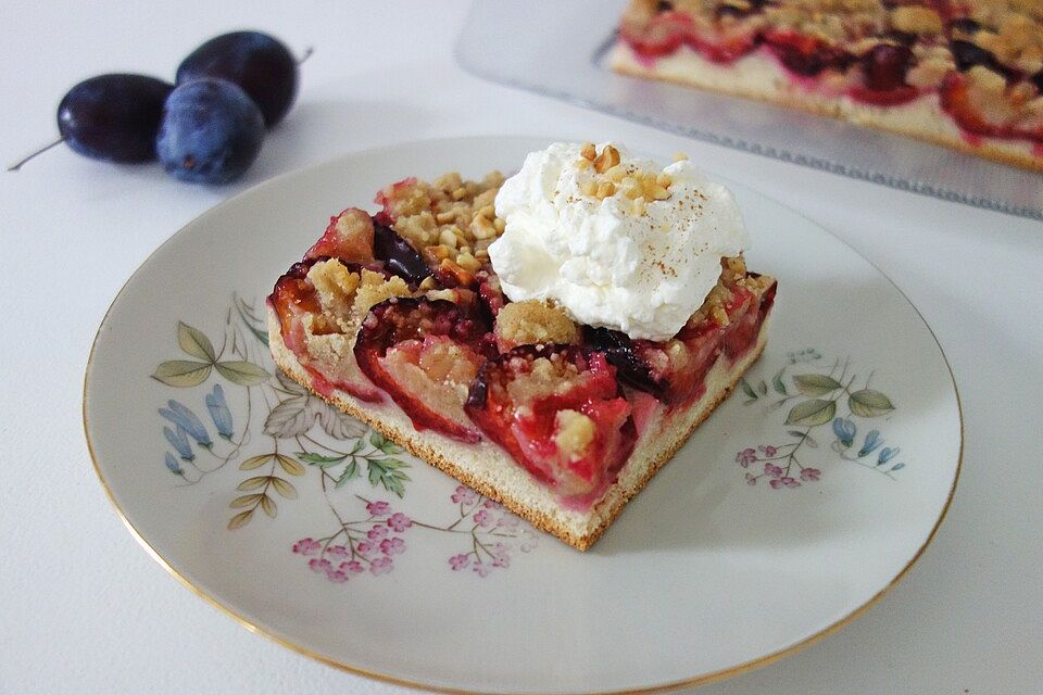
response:
{"label": "white whipped cream dollop topped with chopped nuts", "polygon": [[749,245],[724,186],[687,160],[662,168],[608,142],[530,153],[495,210],[506,226],[489,257],[512,301],[552,300],[633,339],[677,334],[721,257]]}

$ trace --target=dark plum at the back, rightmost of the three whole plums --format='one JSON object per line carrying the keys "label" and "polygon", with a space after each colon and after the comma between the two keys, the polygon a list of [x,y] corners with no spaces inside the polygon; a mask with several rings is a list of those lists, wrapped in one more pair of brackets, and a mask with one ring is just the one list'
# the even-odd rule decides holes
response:
{"label": "dark plum at the back, rightmost of the three whole plums", "polygon": [[239,85],[257,104],[268,128],[282,119],[297,96],[297,61],[281,41],[261,31],[216,36],[177,66],[178,85],[202,78]]}

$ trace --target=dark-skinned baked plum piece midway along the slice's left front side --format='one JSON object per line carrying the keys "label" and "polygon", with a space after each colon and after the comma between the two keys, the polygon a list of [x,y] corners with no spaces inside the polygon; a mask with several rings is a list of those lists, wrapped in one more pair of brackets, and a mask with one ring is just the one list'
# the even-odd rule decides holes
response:
{"label": "dark-skinned baked plum piece midway along the slice's left front side", "polygon": [[355,341],[359,367],[413,420],[462,442],[480,440],[464,414],[485,362],[489,326],[448,300],[392,298],[369,309]]}

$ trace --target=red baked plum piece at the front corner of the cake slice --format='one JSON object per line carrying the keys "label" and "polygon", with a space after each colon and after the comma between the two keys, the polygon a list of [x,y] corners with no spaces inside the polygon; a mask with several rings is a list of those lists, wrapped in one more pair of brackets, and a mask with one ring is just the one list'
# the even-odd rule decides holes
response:
{"label": "red baked plum piece at the front corner of the cake slice", "polygon": [[523,345],[490,359],[465,410],[537,480],[578,504],[604,492],[637,440],[616,368],[575,345]]}

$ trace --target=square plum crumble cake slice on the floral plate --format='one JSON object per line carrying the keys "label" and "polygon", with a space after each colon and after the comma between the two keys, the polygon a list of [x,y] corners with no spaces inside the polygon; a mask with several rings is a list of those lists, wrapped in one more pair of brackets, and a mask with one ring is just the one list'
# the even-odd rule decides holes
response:
{"label": "square plum crumble cake slice on the floral plate", "polygon": [[585,325],[550,298],[512,301],[489,251],[510,225],[497,212],[503,182],[411,178],[378,193],[375,215],[334,216],[268,298],[272,354],[345,413],[586,549],[759,356],[776,281],[741,255],[716,260],[701,304],[658,340]]}

